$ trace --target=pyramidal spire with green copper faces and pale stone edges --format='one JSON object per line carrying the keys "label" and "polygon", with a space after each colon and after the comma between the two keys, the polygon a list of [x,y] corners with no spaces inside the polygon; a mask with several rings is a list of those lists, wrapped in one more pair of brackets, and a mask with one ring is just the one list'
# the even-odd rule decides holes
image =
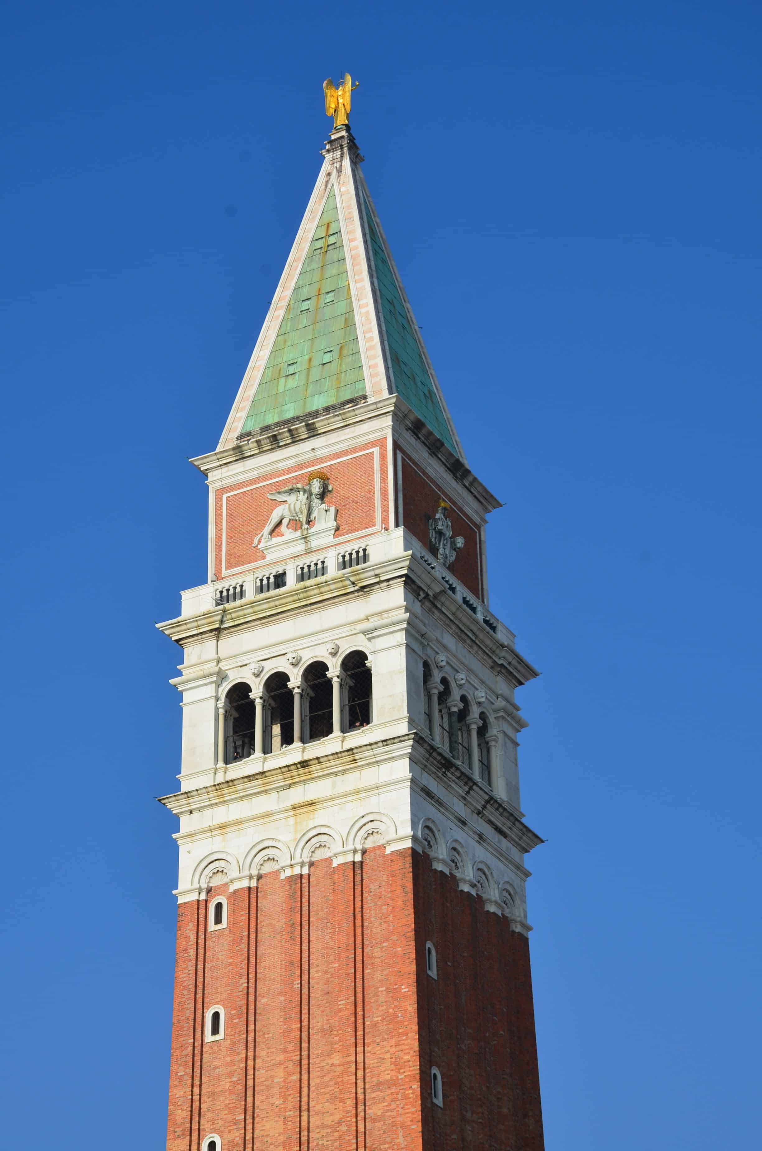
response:
{"label": "pyramidal spire with green copper faces and pale stone edges", "polygon": [[397,395],[465,462],[348,123],[322,155],[219,449],[283,420]]}

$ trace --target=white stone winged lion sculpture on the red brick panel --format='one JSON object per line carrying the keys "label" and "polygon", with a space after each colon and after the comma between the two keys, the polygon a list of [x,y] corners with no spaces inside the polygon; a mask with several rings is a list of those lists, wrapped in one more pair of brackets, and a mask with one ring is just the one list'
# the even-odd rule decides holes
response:
{"label": "white stone winged lion sculpture on the red brick panel", "polygon": [[[268,500],[277,500],[267,524],[254,536],[252,547],[260,548],[266,556],[297,555],[304,551],[305,540],[317,547],[328,543],[338,528],[337,509],[325,503],[325,497],[333,491],[333,485],[325,472],[311,472],[306,485],[292,483],[280,491],[268,493]],[[297,524],[295,531],[289,524]],[[312,524],[312,527],[310,526]],[[281,535],[273,539],[273,532],[280,527]]]}

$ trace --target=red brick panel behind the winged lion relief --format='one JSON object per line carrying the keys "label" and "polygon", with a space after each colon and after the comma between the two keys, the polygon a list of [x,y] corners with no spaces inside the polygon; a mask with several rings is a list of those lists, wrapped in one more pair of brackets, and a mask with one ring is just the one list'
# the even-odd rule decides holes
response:
{"label": "red brick panel behind the winged lion relief", "polygon": [[[380,523],[376,519],[374,448],[379,450]],[[306,483],[307,475],[314,471],[325,471],[333,485],[334,490],[327,494],[326,503],[338,509],[338,531],[334,540],[338,541],[355,532],[389,527],[387,441],[374,440],[338,459],[336,456],[318,457],[300,472],[281,470],[253,481],[244,480],[221,488],[215,495],[214,508],[214,571],[218,577],[265,559],[265,552],[252,547],[252,541],[277,506],[277,502],[269,500],[268,494],[284,489],[290,483]],[[291,529],[294,527],[291,524]],[[281,527],[277,527],[273,539],[279,539],[282,534]]]}

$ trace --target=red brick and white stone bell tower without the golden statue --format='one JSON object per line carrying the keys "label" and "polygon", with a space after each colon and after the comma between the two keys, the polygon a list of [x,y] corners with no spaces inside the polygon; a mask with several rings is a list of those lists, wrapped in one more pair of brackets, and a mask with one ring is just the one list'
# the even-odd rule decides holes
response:
{"label": "red brick and white stone bell tower without the golden statue", "polygon": [[500,503],[348,123],[322,154],[222,437],[193,460],[208,580],[159,625],[183,649],[167,1149],[541,1151],[541,839],[515,701],[536,672],[489,608]]}

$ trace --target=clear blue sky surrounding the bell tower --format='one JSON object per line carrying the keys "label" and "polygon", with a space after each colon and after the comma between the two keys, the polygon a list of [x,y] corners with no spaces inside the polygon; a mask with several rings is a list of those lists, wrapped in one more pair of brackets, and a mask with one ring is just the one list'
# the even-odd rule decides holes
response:
{"label": "clear blue sky surrounding the bell tower", "polygon": [[[352,127],[521,693],[548,1149],[757,1145],[760,10],[3,5],[8,1146],[163,1145],[214,448]],[[10,882],[13,879],[13,882]]]}

